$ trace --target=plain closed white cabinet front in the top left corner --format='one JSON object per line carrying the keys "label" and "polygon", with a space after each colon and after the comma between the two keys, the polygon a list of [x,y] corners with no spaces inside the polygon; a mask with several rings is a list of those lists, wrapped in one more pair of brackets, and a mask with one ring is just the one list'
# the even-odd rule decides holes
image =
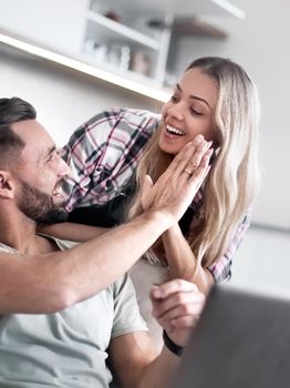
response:
{"label": "plain closed white cabinet front in the top left corner", "polygon": [[77,57],[87,4],[89,0],[0,0],[0,31]]}

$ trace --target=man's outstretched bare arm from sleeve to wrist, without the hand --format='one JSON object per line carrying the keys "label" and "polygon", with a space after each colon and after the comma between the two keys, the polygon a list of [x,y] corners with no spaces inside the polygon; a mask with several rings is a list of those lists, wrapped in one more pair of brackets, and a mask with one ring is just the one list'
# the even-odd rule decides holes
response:
{"label": "man's outstretched bare arm from sleeve to wrist, without the hand", "polygon": [[31,256],[1,253],[0,314],[55,313],[97,294],[169,224],[156,211],[71,249]]}

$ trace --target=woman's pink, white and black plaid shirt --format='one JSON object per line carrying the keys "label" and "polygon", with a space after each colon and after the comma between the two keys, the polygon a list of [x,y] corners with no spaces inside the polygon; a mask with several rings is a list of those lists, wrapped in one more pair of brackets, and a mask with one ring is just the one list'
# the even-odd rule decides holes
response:
{"label": "woman's pink, white and black plaid shirt", "polygon": [[[148,111],[113,109],[81,125],[61,151],[71,167],[71,177],[64,184],[66,210],[104,205],[120,195],[132,180],[142,150],[157,130],[159,119]],[[201,201],[200,190],[193,208],[199,207]],[[248,226],[249,216],[246,216],[225,255],[208,268],[217,282],[230,278],[232,254]]]}

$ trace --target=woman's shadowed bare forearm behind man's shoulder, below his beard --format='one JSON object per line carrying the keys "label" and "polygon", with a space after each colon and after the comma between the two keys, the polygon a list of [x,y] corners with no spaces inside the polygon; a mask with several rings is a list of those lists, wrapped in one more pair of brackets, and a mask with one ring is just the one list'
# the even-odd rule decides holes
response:
{"label": "woman's shadowed bare forearm behind man's shoulder, below his beard", "polygon": [[53,224],[50,226],[38,226],[37,232],[50,236],[68,239],[70,242],[83,243],[97,237],[107,231],[106,227],[91,226],[74,223]]}

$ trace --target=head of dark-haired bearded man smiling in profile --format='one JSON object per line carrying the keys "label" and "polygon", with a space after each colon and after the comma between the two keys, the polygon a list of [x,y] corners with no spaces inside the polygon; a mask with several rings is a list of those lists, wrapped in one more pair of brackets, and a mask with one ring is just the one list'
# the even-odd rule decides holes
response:
{"label": "head of dark-haired bearded man smiling in profile", "polygon": [[37,223],[63,222],[61,184],[69,167],[35,119],[28,102],[0,99],[0,201],[14,201]]}

